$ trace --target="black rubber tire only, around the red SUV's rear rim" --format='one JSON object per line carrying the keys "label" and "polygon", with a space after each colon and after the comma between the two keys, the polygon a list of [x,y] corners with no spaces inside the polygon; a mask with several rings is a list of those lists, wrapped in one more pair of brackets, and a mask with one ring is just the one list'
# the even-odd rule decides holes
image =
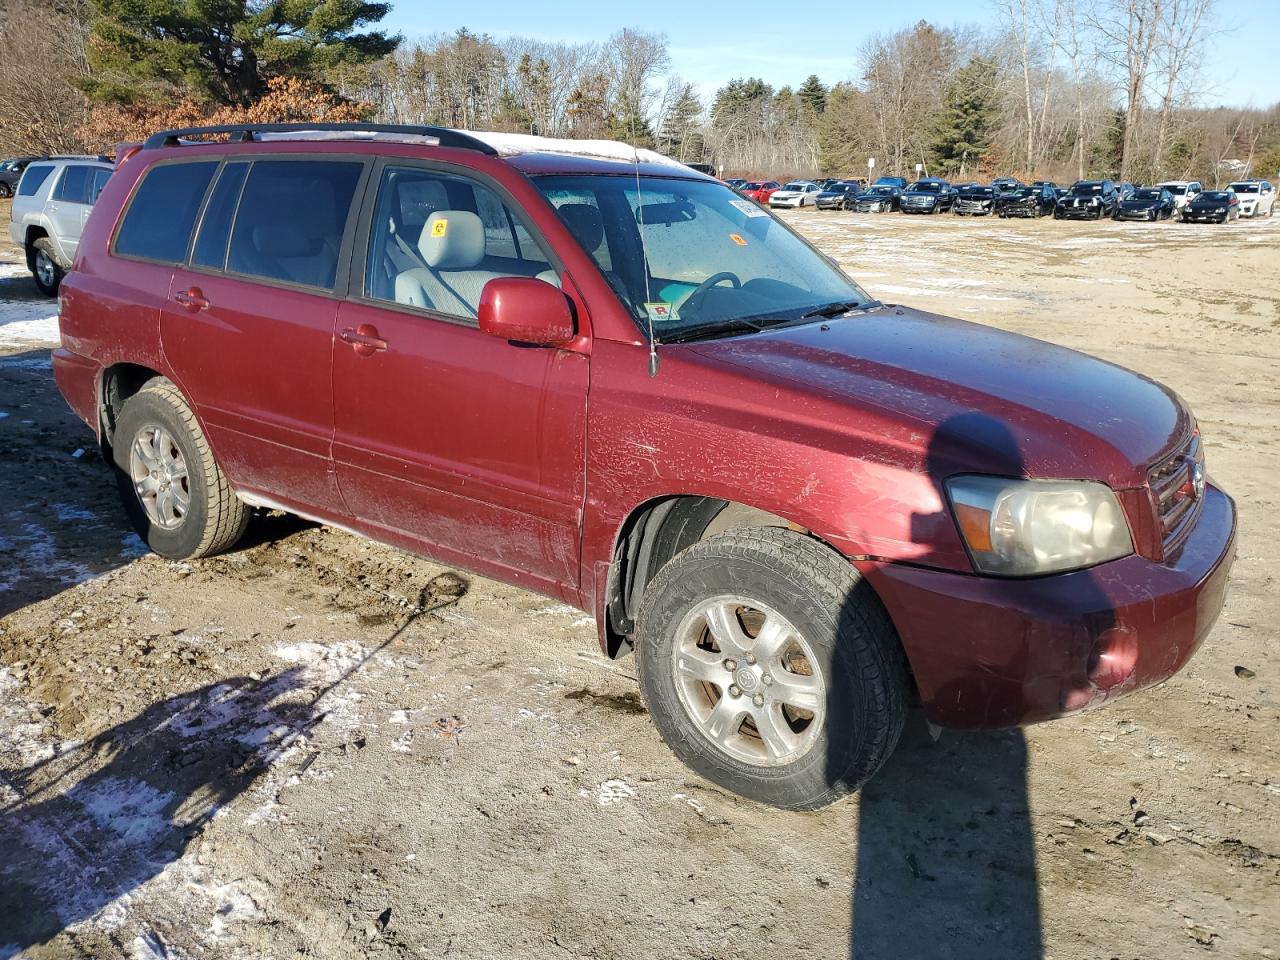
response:
{"label": "black rubber tire only, around the red SUV's rear rim", "polygon": [[[188,509],[175,527],[154,524],[131,476],[129,451],[145,430],[163,428],[187,466]],[[250,508],[223,475],[196,415],[172,381],[157,378],[124,403],[115,424],[113,458],[124,512],[147,547],[170,559],[195,559],[236,544],[248,526]],[[179,481],[180,483],[180,481]]]}

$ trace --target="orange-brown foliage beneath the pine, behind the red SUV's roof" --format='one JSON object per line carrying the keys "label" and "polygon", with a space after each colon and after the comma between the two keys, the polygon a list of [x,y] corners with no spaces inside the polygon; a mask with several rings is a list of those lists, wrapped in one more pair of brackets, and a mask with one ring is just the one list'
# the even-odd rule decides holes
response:
{"label": "orange-brown foliage beneath the pine, behind the red SUV's roof", "polygon": [[146,140],[156,131],[223,123],[351,123],[367,119],[369,106],[344,100],[314,81],[273,77],[266,93],[248,106],[210,106],[184,99],[174,104],[99,104],[90,110],[83,138],[110,151],[122,141]]}

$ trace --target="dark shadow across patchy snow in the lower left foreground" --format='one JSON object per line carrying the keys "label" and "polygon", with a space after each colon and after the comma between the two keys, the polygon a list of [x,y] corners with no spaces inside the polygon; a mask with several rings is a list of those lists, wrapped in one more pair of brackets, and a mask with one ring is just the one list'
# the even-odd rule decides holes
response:
{"label": "dark shadow across patchy snow in the lower left foreground", "polygon": [[323,719],[317,700],[298,669],[234,677],[3,774],[0,957],[47,943],[178,860]]}

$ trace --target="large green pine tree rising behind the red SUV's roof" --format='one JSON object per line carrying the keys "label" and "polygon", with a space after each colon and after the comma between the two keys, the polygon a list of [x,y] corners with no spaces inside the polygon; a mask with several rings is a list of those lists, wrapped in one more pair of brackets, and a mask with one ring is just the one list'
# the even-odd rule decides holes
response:
{"label": "large green pine tree rising behind the red SUV's roof", "polygon": [[362,0],[93,0],[93,100],[134,102],[174,90],[246,106],[271,77],[310,77],[390,54],[399,36],[360,31],[388,4]]}

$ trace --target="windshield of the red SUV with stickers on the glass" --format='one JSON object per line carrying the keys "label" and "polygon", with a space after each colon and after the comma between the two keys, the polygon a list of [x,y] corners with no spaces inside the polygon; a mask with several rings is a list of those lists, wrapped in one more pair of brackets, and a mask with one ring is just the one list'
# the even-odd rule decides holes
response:
{"label": "windshield of the red SUV with stickers on the glass", "polygon": [[659,177],[535,183],[659,342],[874,302],[780,220],[722,184]]}

